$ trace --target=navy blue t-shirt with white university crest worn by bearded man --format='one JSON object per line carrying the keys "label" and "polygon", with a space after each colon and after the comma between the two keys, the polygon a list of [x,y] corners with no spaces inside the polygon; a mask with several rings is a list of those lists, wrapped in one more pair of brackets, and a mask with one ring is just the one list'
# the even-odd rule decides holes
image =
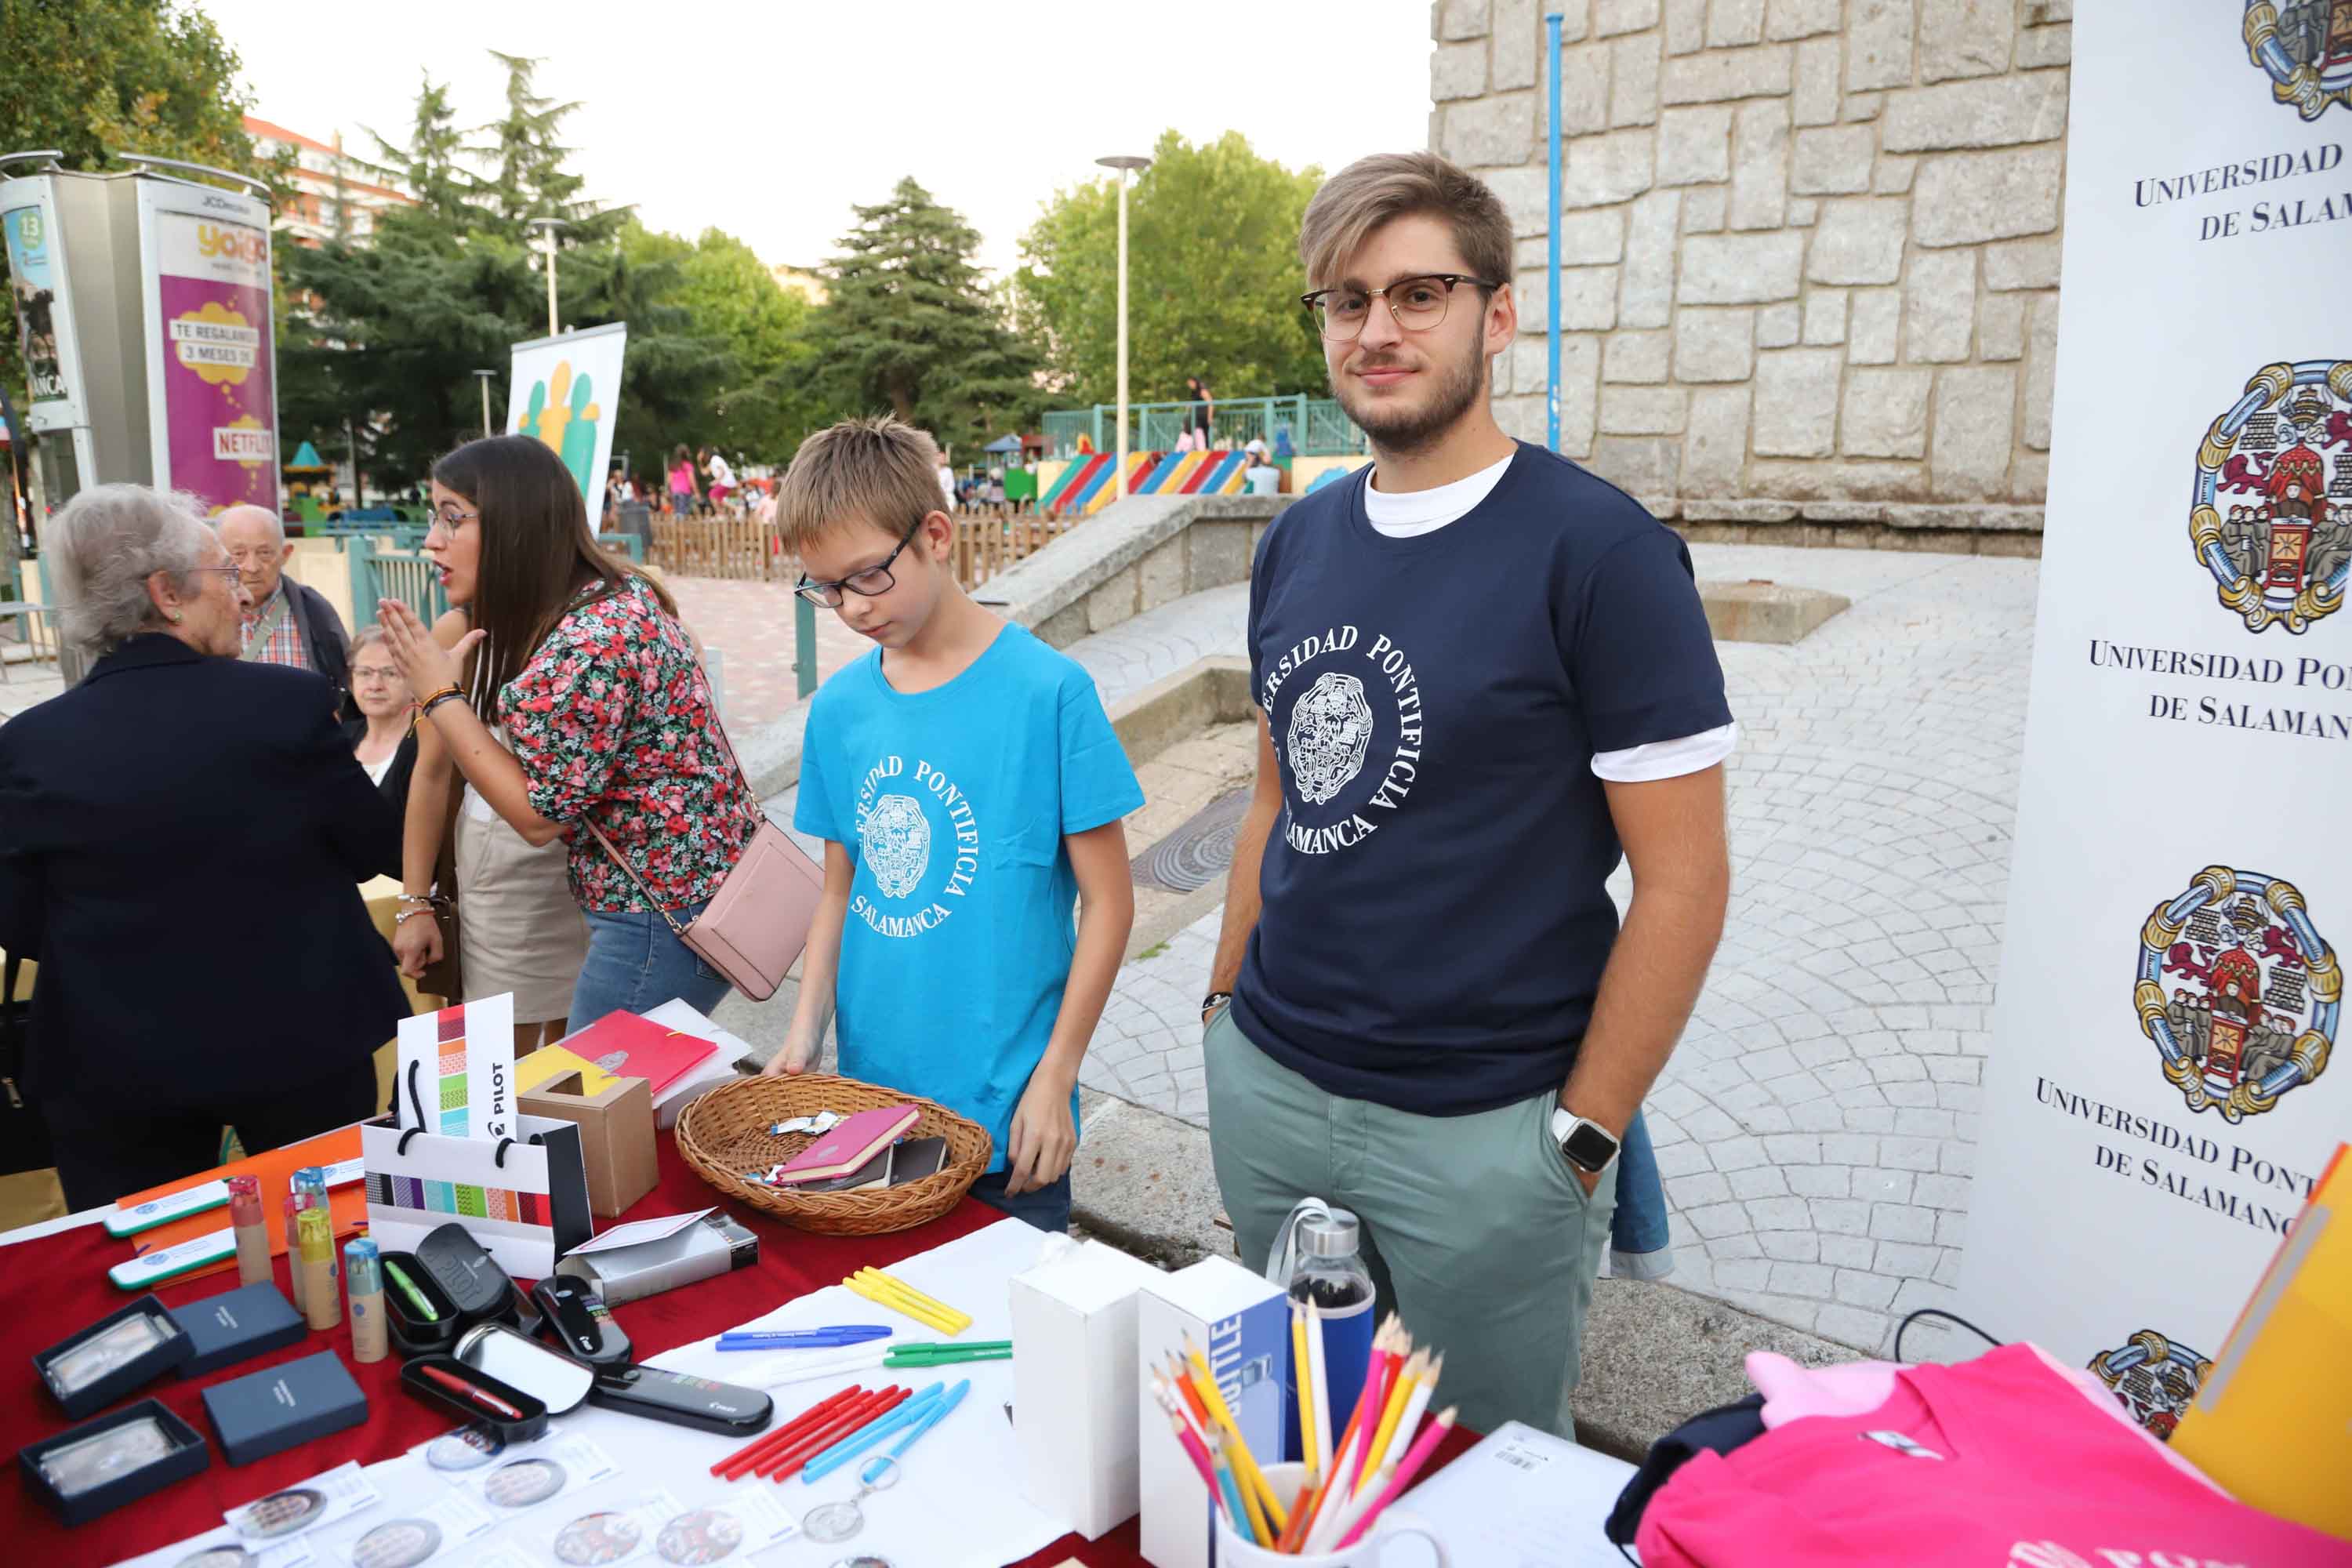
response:
{"label": "navy blue t-shirt with white university crest worn by bearded man", "polygon": [[1731,710],[1691,552],[1613,484],[1522,444],[1388,538],[1369,477],[1282,512],[1249,578],[1284,806],[1232,1018],[1329,1093],[1470,1114],[1557,1091],[1592,1018],[1623,856],[1592,755]]}

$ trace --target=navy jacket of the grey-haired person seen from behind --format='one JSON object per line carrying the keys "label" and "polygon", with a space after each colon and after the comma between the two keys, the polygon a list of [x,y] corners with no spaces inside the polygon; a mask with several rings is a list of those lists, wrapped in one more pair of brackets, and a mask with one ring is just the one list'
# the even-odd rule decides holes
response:
{"label": "navy jacket of the grey-haired person seen from behind", "polygon": [[358,884],[400,870],[400,820],[332,708],[308,670],[146,635],[0,724],[35,1093],[233,1107],[393,1037],[409,1004]]}

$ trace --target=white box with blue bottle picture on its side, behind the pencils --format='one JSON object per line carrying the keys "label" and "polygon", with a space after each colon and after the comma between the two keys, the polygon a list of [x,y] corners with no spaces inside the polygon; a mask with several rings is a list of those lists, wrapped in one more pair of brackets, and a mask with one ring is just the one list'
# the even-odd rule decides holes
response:
{"label": "white box with blue bottle picture on its side, behind the pencils", "polygon": [[[1282,1286],[1230,1258],[1202,1258],[1136,1293],[1136,1455],[1143,1561],[1207,1568],[1209,1488],[1152,1399],[1152,1371],[1185,1340],[1207,1356],[1225,1406],[1258,1465],[1282,1453],[1282,1387],[1291,1363],[1291,1309]],[[1014,1406],[1018,1420],[1021,1406]]]}

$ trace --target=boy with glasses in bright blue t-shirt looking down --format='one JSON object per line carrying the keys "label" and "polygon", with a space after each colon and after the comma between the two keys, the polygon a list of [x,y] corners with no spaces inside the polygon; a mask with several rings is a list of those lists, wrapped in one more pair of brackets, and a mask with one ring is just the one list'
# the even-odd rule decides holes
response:
{"label": "boy with glasses in bright blue t-shirt looking down", "polygon": [[807,1072],[837,1006],[844,1077],[985,1126],[971,1197],[1065,1229],[1143,790],[1094,679],[955,581],[934,463],[913,425],[854,418],[802,442],[776,496],[800,595],[877,649],[809,703],[793,825],[826,839],[826,896],[767,1070]]}

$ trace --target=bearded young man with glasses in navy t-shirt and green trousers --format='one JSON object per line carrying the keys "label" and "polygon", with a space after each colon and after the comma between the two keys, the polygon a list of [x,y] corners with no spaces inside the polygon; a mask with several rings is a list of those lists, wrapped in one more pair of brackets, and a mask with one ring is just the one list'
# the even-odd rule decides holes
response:
{"label": "bearded young man with glasses in navy t-shirt and green trousers", "polygon": [[1566,1434],[1618,1143],[1722,936],[1724,677],[1682,541],[1494,421],[1519,315],[1484,183],[1367,158],[1298,254],[1374,463],[1251,571],[1258,790],[1202,1004],[1216,1180],[1251,1262],[1296,1199],[1355,1208],[1381,1307],[1446,1354],[1439,1399]]}

